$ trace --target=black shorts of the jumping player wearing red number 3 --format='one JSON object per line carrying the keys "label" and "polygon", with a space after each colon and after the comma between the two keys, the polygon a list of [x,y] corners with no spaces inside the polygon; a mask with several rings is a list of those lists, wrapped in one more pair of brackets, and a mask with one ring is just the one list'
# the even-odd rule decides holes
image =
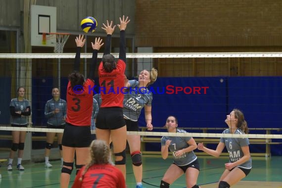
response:
{"label": "black shorts of the jumping player wearing red number 3", "polygon": [[90,126],[75,126],[66,123],[62,145],[68,147],[89,147],[91,141]]}

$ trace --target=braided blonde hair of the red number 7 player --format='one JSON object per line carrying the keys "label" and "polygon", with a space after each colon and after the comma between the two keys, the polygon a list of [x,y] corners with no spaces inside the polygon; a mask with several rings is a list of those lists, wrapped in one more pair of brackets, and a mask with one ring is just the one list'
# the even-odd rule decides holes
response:
{"label": "braided blonde hair of the red number 7 player", "polygon": [[91,159],[88,164],[86,164],[85,169],[82,173],[82,181],[87,170],[94,164],[113,164],[111,162],[111,150],[108,144],[102,140],[94,140],[90,144],[90,154]]}

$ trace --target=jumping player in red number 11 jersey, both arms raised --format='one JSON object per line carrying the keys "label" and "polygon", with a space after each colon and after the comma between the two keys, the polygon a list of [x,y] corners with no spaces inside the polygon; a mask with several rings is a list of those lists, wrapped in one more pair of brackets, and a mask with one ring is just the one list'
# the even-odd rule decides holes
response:
{"label": "jumping player in red number 11 jersey, both arms raised", "polygon": [[103,24],[103,30],[107,33],[105,52],[102,62],[99,65],[99,84],[102,104],[96,118],[96,138],[109,143],[111,137],[114,154],[115,165],[119,168],[124,178],[126,177],[126,124],[123,118],[123,98],[124,94],[121,88],[124,87],[124,72],[126,67],[126,47],[125,47],[125,29],[130,22],[128,17],[120,18],[120,51],[119,59],[115,61],[113,55],[110,54],[111,35],[115,26],[112,21],[107,25]]}

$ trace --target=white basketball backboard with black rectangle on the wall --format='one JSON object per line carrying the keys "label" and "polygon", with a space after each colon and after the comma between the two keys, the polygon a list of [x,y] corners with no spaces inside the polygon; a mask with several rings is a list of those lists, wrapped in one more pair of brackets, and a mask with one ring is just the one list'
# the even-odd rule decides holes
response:
{"label": "white basketball backboard with black rectangle on the wall", "polygon": [[43,33],[56,33],[56,7],[31,5],[31,46],[54,47],[56,37],[46,35],[43,43]]}

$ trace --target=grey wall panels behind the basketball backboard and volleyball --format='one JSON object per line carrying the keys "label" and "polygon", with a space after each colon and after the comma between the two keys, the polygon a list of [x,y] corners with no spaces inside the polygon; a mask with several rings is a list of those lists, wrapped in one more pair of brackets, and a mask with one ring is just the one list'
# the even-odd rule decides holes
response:
{"label": "grey wall panels behind the basketball backboard and volleyball", "polygon": [[[26,0],[0,0],[0,28],[17,27],[23,29],[24,3]],[[104,34],[100,28],[102,22],[114,20],[119,23],[123,14],[135,22],[135,0],[36,0],[36,5],[57,7],[57,32],[81,33],[80,21],[93,16],[98,22],[95,35]],[[134,34],[134,27],[128,27],[127,33]]]}

